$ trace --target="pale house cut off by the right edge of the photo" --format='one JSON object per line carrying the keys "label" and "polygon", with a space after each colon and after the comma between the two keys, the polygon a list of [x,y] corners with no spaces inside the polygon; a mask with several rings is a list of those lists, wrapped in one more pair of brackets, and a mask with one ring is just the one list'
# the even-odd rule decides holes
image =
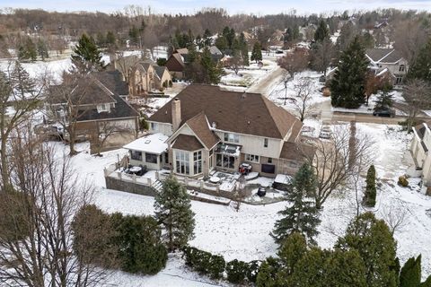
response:
{"label": "pale house cut off by the right edge of the photo", "polygon": [[427,123],[413,127],[410,152],[417,170],[422,170],[423,185],[431,187],[431,130]]}

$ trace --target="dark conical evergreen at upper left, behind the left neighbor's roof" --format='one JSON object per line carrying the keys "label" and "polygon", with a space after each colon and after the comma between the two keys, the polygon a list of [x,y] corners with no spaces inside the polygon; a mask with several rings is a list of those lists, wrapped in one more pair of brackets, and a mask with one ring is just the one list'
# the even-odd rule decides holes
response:
{"label": "dark conical evergreen at upper left, behind the left neighbor's roof", "polygon": [[72,54],[72,63],[75,69],[82,73],[104,68],[101,61],[101,51],[97,48],[91,36],[83,34]]}

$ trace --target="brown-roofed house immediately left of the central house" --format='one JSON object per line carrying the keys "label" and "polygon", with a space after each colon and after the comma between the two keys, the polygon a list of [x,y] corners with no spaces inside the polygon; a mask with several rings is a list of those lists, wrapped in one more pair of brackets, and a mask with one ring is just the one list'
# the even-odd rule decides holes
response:
{"label": "brown-roofed house immediately left of the central house", "polygon": [[[51,89],[64,88],[60,85]],[[136,136],[139,114],[123,100],[128,96],[128,86],[119,71],[88,74],[77,81],[71,94],[54,96],[58,94],[61,93],[53,92],[48,99],[52,119],[66,125],[74,120],[78,137],[99,136],[107,129]]]}

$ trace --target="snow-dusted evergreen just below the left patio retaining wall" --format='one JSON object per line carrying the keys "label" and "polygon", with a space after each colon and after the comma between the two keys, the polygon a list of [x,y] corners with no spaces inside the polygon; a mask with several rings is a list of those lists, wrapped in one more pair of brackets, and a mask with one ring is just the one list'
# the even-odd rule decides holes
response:
{"label": "snow-dusted evergreen just below the left patio retaining wall", "polygon": [[193,238],[195,214],[191,211],[189,194],[177,178],[166,178],[163,190],[155,196],[154,209],[170,251],[184,247]]}

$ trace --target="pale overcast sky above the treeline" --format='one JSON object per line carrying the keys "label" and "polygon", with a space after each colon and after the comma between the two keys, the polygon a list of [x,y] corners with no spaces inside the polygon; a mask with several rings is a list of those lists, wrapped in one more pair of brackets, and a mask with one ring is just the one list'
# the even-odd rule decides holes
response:
{"label": "pale overcast sky above the treeline", "polygon": [[195,13],[203,7],[221,7],[228,13],[328,13],[344,10],[371,10],[399,8],[431,11],[431,0],[0,0],[0,7],[41,8],[49,11],[101,11],[121,10],[127,4],[151,6],[155,13]]}

